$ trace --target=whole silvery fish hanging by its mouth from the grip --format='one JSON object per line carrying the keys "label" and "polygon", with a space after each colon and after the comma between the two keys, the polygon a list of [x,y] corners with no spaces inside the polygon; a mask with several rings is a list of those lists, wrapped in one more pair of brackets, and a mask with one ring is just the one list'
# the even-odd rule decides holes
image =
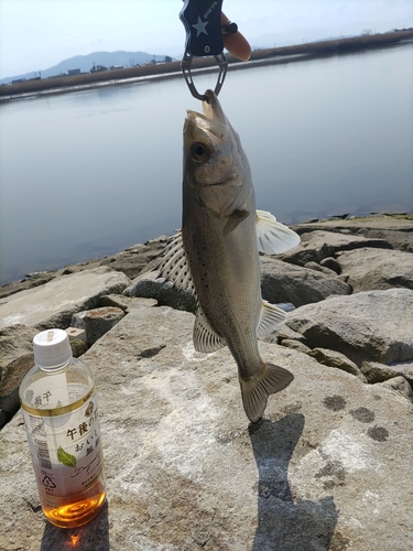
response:
{"label": "whole silvery fish hanging by its mouth from the grip", "polygon": [[216,94],[207,90],[205,97],[203,114],[188,110],[184,122],[182,228],[157,270],[196,296],[194,348],[229,348],[244,412],[257,423],[268,397],[294,378],[260,356],[258,338],[284,323],[285,312],[261,296],[259,253],[284,252],[300,237],[272,214],[257,210],[240,138]]}

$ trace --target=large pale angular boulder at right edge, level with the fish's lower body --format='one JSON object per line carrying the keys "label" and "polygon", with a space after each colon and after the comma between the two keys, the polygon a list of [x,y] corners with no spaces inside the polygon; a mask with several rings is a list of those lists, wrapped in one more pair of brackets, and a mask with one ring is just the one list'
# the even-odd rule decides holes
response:
{"label": "large pale angular boulder at right edge, level with the fish's lower body", "polygon": [[413,291],[391,289],[302,306],[286,314],[286,324],[311,348],[339,352],[357,366],[389,365],[413,360],[412,312]]}

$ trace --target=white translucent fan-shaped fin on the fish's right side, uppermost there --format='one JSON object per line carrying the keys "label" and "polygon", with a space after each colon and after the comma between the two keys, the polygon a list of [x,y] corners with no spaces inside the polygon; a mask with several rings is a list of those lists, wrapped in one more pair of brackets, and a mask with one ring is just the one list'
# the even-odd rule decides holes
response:
{"label": "white translucent fan-shaped fin on the fish's right side, uppermost there", "polygon": [[276,222],[275,216],[265,210],[257,210],[258,250],[267,255],[280,255],[300,244],[300,236]]}

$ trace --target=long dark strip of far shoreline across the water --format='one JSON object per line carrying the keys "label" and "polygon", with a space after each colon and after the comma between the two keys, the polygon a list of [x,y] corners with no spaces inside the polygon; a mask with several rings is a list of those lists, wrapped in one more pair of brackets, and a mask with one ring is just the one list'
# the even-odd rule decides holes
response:
{"label": "long dark strip of far shoreline across the water", "polygon": [[[247,62],[240,62],[231,54],[226,54],[232,69],[250,68],[265,64],[304,61],[323,55],[346,54],[360,50],[396,45],[413,40],[413,29],[389,33],[367,34],[351,39],[337,39],[308,42],[293,46],[254,50]],[[197,57],[192,64],[193,73],[216,71],[214,57]],[[181,61],[163,64],[144,65],[101,73],[85,73],[75,76],[56,76],[45,79],[25,80],[0,86],[0,101],[20,99],[35,94],[62,94],[74,90],[95,88],[102,85],[131,84],[133,82],[182,76]]]}

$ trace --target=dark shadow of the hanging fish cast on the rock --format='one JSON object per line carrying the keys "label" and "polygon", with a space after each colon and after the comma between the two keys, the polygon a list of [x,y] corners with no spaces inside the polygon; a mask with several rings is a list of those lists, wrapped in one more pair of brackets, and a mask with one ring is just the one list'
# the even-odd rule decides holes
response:
{"label": "dark shadow of the hanging fish cast on the rock", "polygon": [[250,425],[259,472],[258,528],[253,551],[328,550],[338,511],[333,497],[294,501],[287,468],[304,429],[304,415]]}

